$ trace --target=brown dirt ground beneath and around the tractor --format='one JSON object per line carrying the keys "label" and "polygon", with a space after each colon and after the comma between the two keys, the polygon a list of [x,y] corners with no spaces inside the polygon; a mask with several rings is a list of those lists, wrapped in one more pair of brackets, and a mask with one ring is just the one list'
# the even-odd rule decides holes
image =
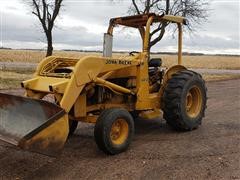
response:
{"label": "brown dirt ground beneath and around the tractor", "polygon": [[208,109],[197,130],[139,120],[129,150],[116,156],[97,149],[88,124],[78,126],[57,158],[0,142],[0,179],[240,179],[240,79],[207,86]]}

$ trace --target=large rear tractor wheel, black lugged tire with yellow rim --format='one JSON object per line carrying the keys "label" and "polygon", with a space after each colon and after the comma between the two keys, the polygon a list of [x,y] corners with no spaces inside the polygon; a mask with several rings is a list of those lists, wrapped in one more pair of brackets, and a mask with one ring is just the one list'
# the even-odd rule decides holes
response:
{"label": "large rear tractor wheel, black lugged tire with yellow rim", "polygon": [[164,119],[176,130],[196,129],[206,109],[206,86],[201,75],[183,70],[167,82],[163,94]]}

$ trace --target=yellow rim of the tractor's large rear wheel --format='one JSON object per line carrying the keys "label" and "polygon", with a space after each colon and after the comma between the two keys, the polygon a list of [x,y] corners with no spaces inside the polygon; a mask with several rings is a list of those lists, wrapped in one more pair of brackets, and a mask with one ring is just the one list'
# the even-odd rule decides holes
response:
{"label": "yellow rim of the tractor's large rear wheel", "polygon": [[202,109],[202,93],[199,87],[193,86],[186,96],[186,111],[187,115],[195,118],[199,115]]}

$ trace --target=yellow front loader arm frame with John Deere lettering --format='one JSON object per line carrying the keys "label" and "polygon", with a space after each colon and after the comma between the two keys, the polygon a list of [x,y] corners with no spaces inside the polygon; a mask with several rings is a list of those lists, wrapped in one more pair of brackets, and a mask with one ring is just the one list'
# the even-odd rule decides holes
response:
{"label": "yellow front loader arm frame with John Deere lettering", "polygon": [[[127,67],[138,66],[140,61],[136,57],[123,57],[123,58],[109,58],[109,57],[94,57],[86,56],[78,59],[72,59],[75,63],[70,64],[73,66],[72,73],[69,77],[63,75],[60,77],[57,73],[54,75],[53,69],[56,68],[53,64],[62,61],[63,58],[50,57],[43,60],[37,67],[37,72],[34,78],[22,82],[22,86],[27,90],[27,96],[31,97],[32,94],[53,93],[61,96],[60,106],[67,113],[71,110],[82,90],[89,83],[98,83],[110,86],[111,88],[120,92],[129,92],[130,90],[107,82],[102,79],[100,75],[106,74],[110,71],[120,70]],[[66,59],[69,60],[69,59]],[[65,61],[66,61],[65,60]],[[69,65],[69,66],[70,66]],[[65,66],[68,66],[66,64]],[[48,69],[48,73],[45,70]],[[45,76],[43,76],[45,75]],[[50,76],[49,76],[50,75]],[[55,76],[55,77],[51,77]]]}

